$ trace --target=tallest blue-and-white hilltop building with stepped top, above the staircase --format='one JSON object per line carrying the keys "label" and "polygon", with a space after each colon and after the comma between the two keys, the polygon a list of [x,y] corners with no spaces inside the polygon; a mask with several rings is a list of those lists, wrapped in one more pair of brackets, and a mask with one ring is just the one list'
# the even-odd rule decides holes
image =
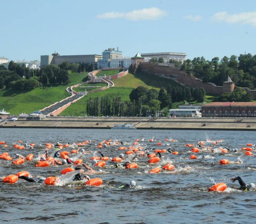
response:
{"label": "tallest blue-and-white hilltop building with stepped top, above the staircase", "polygon": [[122,52],[118,51],[118,47],[117,47],[117,51],[115,50],[114,47],[110,47],[110,48],[108,48],[108,50],[107,49],[104,50],[102,52],[102,59],[98,60],[97,68],[111,67],[110,60],[115,59],[115,58],[122,58]]}

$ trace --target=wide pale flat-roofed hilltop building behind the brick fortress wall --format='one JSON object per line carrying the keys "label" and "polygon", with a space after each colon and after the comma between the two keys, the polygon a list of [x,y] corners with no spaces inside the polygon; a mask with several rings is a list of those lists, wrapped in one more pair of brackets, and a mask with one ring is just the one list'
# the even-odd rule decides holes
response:
{"label": "wide pale flat-roofed hilltop building behind the brick fortress wall", "polygon": [[159,53],[142,53],[141,57],[148,58],[163,58],[164,62],[169,62],[170,59],[183,62],[186,60],[186,53],[176,53],[176,52],[159,52]]}

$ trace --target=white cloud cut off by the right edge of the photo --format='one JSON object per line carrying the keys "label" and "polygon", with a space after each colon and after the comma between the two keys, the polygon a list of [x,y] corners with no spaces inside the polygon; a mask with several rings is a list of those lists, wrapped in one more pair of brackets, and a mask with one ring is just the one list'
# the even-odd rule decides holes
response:
{"label": "white cloud cut off by the right edge of the photo", "polygon": [[254,12],[240,12],[228,14],[225,12],[217,12],[212,15],[214,21],[224,21],[227,23],[243,23],[251,24],[256,27],[256,11]]}

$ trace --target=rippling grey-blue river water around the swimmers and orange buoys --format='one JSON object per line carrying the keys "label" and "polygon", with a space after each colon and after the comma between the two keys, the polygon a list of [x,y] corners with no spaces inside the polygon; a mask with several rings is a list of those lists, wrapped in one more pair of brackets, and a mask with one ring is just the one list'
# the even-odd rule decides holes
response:
{"label": "rippling grey-blue river water around the swimmers and orange buoys", "polygon": [[[156,142],[148,139],[155,137]],[[47,142],[72,143],[94,140],[95,144],[104,139],[124,141],[129,146],[135,139],[140,145],[153,152],[152,148],[167,149],[170,146],[178,155],[163,153],[162,162],[147,166],[147,157],[138,157],[138,169],[114,168],[107,162],[103,173],[90,175],[103,180],[100,187],[82,188],[72,184],[48,186],[43,183],[18,181],[15,184],[0,183],[0,222],[11,223],[255,223],[255,191],[240,191],[238,182],[231,177],[240,176],[244,182],[256,182],[254,156],[245,156],[240,148],[255,142],[255,132],[238,131],[183,131],[183,130],[100,130],[100,129],[0,129],[0,141],[8,148],[0,146],[0,152],[8,152],[14,158],[16,153],[27,156],[44,152]],[[178,142],[165,141],[177,139]],[[197,153],[198,159],[191,160],[186,143],[220,140],[219,147],[238,148],[236,153],[221,154],[210,150]],[[36,143],[34,149],[13,148],[18,140]],[[162,141],[161,146],[157,142]],[[87,145],[86,150],[97,151],[96,145]],[[212,143],[205,142],[206,146]],[[65,149],[66,150],[66,149]],[[71,149],[68,149],[70,151]],[[54,151],[49,150],[50,154]],[[115,157],[125,151],[118,146],[102,148],[105,156]],[[242,155],[242,156],[241,156]],[[89,158],[83,157],[92,166]],[[126,160],[131,160],[131,156]],[[204,156],[204,157],[202,157]],[[235,161],[241,156],[243,164],[220,165],[219,160],[227,158]],[[172,161],[176,172],[161,171],[148,174],[149,169],[162,167]],[[60,176],[64,166],[35,167],[36,160],[14,165],[0,160],[0,176],[26,170],[32,176]],[[71,165],[68,165],[71,166]],[[188,169],[188,166],[190,169]],[[116,189],[121,183],[135,180],[135,188]],[[224,182],[228,188],[224,192],[207,192],[214,182]]]}

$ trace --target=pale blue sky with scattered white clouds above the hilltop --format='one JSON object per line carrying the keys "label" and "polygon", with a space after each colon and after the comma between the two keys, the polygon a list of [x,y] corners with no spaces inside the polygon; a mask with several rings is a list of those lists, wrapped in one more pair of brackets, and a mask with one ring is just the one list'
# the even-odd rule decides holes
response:
{"label": "pale blue sky with scattered white clouds above the hilltop", "polygon": [[255,0],[1,0],[0,57],[137,52],[187,59],[256,52]]}

